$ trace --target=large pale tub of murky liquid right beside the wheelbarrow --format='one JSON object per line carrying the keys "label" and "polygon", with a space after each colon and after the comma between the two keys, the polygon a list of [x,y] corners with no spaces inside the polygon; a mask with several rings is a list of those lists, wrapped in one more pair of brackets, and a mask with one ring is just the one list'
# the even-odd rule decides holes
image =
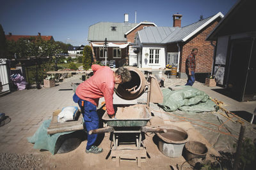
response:
{"label": "large pale tub of murky liquid right beside the wheelbarrow", "polygon": [[180,157],[185,143],[188,141],[188,133],[180,127],[161,127],[166,133],[157,133],[160,138],[158,148],[167,157]]}

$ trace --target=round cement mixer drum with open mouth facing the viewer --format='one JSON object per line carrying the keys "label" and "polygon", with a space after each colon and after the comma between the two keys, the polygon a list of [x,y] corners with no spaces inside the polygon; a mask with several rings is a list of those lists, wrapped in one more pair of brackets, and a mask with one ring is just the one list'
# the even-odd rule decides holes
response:
{"label": "round cement mixer drum with open mouth facing the viewer", "polygon": [[131,81],[115,85],[116,95],[125,100],[133,100],[140,97],[146,85],[144,74],[136,67],[126,67],[132,76]]}

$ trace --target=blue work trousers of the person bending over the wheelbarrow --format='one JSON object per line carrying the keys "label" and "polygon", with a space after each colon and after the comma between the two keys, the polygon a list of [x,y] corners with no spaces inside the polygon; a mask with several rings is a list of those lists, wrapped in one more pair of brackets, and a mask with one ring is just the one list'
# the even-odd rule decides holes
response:
{"label": "blue work trousers of the person bending over the wheelbarrow", "polygon": [[79,107],[84,110],[83,118],[85,128],[88,134],[86,150],[90,150],[93,143],[95,143],[97,139],[97,134],[89,134],[88,132],[93,129],[99,129],[99,117],[97,114],[97,107],[90,103],[89,101],[84,101],[84,107],[82,107],[82,99],[80,99],[76,93],[73,96],[73,101],[79,105]]}

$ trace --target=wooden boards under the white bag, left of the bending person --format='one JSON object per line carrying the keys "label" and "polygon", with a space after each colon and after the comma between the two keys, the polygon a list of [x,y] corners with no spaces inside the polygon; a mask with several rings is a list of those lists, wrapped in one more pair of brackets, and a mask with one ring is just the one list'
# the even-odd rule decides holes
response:
{"label": "wooden boards under the white bag, left of the bending person", "polygon": [[56,134],[60,132],[70,132],[70,131],[79,131],[83,130],[83,115],[80,114],[78,120],[69,121],[69,122],[63,122],[59,123],[57,120],[57,116],[61,110],[56,110],[52,113],[52,121],[47,129],[47,134]]}

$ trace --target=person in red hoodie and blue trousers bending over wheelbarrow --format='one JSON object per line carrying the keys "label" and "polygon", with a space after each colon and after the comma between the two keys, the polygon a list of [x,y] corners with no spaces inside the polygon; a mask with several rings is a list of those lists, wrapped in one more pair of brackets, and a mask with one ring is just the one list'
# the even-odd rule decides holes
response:
{"label": "person in red hoodie and blue trousers bending over wheelbarrow", "polygon": [[[81,108],[86,131],[99,128],[99,117],[97,106],[99,98],[104,97],[106,108],[110,118],[115,117],[113,108],[113,94],[115,84],[124,83],[131,80],[131,73],[125,67],[119,67],[115,72],[107,66],[92,65],[93,76],[81,83],[73,96],[75,103]],[[97,139],[97,134],[88,134],[86,153],[100,153],[102,148],[93,145]]]}

